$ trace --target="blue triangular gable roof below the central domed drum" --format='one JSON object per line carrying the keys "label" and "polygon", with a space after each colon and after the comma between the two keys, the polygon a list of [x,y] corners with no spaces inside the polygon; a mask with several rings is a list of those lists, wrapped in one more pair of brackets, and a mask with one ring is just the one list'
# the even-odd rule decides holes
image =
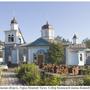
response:
{"label": "blue triangular gable roof below the central domed drum", "polygon": [[27,46],[49,46],[49,42],[43,38],[38,38],[37,40],[28,44]]}

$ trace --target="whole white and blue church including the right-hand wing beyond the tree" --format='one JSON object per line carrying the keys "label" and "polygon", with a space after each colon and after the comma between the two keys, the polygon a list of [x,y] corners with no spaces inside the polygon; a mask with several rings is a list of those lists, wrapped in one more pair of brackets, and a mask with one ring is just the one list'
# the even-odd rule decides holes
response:
{"label": "whole white and blue church including the right-hand wing beyond the tree", "polygon": [[[18,22],[14,17],[10,23],[10,30],[5,31],[3,59],[7,64],[19,65],[47,63],[49,45],[55,42],[54,29],[47,22],[41,27],[41,36],[32,43],[26,44]],[[73,43],[65,45],[65,64],[83,66],[90,63],[90,50],[86,45],[77,43],[77,36],[73,36]]]}

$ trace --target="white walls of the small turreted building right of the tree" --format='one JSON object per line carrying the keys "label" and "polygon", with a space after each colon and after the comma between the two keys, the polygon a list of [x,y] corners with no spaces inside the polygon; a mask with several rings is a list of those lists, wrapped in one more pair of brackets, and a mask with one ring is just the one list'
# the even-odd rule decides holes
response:
{"label": "white walls of the small turreted building right of the tree", "polygon": [[[82,54],[82,61],[80,61],[80,54]],[[66,48],[66,65],[79,65],[85,64],[86,56],[84,50],[74,51]]]}

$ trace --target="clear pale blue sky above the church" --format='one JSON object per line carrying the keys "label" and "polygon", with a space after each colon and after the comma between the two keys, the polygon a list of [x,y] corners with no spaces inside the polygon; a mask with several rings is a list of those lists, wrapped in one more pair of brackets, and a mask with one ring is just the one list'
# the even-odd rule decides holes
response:
{"label": "clear pale blue sky above the church", "polygon": [[0,40],[16,17],[26,42],[41,36],[41,26],[53,25],[55,36],[71,40],[74,33],[79,41],[90,38],[90,2],[0,2]]}

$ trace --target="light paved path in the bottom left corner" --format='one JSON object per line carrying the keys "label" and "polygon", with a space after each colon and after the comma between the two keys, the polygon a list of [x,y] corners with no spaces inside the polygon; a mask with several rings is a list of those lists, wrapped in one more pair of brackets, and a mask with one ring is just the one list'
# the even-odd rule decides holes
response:
{"label": "light paved path in the bottom left corner", "polygon": [[2,80],[0,82],[0,85],[5,85],[5,86],[12,86],[12,85],[18,85],[22,86],[22,84],[19,82],[18,78],[16,77],[16,73],[8,70],[5,72],[2,72]]}

